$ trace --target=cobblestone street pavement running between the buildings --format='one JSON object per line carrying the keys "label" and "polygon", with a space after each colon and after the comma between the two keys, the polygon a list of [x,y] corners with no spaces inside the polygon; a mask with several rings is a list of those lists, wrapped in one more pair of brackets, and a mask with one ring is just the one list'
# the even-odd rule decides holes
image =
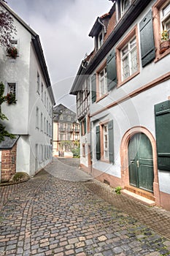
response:
{"label": "cobblestone street pavement running between the buildings", "polygon": [[116,195],[58,159],[0,192],[0,255],[170,255],[169,212]]}

